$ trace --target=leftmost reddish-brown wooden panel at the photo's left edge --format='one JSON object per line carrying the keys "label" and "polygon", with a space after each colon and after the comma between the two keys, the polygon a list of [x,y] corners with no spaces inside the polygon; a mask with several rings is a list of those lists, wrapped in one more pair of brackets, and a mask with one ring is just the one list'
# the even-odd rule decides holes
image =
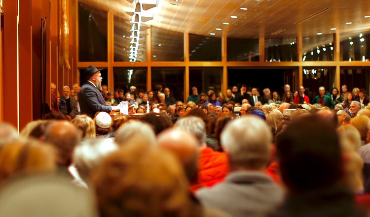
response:
{"label": "leftmost reddish-brown wooden panel at the photo's left edge", "polygon": [[[19,129],[18,91],[18,1],[5,0],[4,9],[4,74],[3,74],[3,121]],[[6,94],[5,94],[6,93]],[[23,104],[22,104],[23,105]],[[23,105],[28,106],[28,105]]]}

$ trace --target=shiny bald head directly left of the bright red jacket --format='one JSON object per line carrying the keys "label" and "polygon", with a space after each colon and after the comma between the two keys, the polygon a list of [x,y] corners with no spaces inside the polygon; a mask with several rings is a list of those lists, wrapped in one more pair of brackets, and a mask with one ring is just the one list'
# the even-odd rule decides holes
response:
{"label": "shiny bald head directly left of the bright red jacket", "polygon": [[199,141],[195,136],[182,129],[169,129],[158,135],[157,145],[179,158],[190,182],[197,180]]}

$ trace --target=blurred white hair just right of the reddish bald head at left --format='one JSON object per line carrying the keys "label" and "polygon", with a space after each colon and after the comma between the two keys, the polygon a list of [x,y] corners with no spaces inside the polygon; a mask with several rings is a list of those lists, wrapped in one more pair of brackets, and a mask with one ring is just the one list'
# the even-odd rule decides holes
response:
{"label": "blurred white hair just right of the reddish bald head at left", "polygon": [[88,177],[106,155],[116,150],[118,146],[111,139],[87,139],[74,148],[74,166],[80,175]]}

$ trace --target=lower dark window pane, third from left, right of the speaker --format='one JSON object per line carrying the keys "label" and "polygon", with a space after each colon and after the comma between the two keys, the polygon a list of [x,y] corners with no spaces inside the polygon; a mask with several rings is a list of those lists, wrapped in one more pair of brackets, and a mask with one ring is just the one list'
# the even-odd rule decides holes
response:
{"label": "lower dark window pane, third from left, right of the speaker", "polygon": [[155,85],[170,89],[170,94],[176,100],[184,100],[184,71],[185,68],[151,68],[152,90]]}

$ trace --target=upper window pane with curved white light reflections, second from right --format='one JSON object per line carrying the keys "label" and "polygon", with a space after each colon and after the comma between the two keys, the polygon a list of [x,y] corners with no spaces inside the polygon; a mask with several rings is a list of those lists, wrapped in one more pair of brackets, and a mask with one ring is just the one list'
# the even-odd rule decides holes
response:
{"label": "upper window pane with curved white light reflections, second from right", "polygon": [[303,37],[302,61],[334,61],[333,34]]}

